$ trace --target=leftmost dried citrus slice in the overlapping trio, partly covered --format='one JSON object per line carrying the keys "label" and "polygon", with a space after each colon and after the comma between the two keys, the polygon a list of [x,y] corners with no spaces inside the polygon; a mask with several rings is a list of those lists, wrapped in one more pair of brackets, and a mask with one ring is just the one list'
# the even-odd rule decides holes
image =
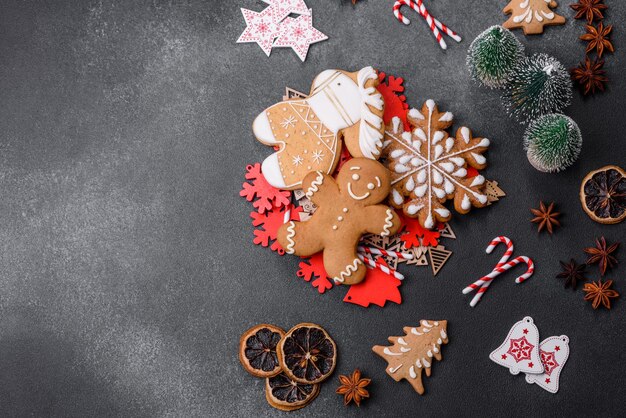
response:
{"label": "leftmost dried citrus slice in the overlapping trio, partly covered", "polygon": [[244,332],[239,340],[239,361],[248,373],[256,377],[271,377],[280,373],[276,345],[285,331],[275,325],[260,324]]}

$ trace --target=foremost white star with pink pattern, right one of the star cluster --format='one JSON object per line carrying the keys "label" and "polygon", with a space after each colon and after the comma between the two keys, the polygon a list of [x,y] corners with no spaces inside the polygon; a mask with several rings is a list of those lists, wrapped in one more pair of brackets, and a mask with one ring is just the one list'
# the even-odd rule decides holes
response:
{"label": "foremost white star with pink pattern, right one of the star cluster", "polygon": [[313,27],[312,14],[300,15],[295,19],[288,17],[281,23],[281,31],[274,41],[274,46],[290,47],[300,57],[300,60],[304,61],[309,52],[309,46],[326,39],[328,36]]}

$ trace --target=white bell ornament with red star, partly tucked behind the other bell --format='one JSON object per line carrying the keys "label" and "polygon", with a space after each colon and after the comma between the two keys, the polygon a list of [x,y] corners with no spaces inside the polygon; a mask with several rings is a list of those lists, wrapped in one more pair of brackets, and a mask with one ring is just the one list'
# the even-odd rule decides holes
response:
{"label": "white bell ornament with red star, partly tucked behind the other bell", "polygon": [[551,393],[559,390],[559,376],[569,357],[569,338],[567,335],[546,338],[539,345],[539,356],[543,364],[542,374],[526,373],[528,383],[536,383]]}

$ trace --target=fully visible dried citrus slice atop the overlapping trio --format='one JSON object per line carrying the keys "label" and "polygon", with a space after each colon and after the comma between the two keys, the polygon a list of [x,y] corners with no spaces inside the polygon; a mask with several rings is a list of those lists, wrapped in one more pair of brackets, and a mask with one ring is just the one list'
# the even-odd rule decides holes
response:
{"label": "fully visible dried citrus slice atop the overlapping trio", "polygon": [[291,328],[276,348],[285,374],[296,382],[319,383],[333,372],[337,347],[319,325],[298,324]]}

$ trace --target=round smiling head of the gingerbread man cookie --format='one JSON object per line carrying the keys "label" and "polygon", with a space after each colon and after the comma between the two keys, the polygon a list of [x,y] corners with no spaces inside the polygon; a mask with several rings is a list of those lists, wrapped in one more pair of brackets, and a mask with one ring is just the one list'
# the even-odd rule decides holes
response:
{"label": "round smiling head of the gingerbread man cookie", "polygon": [[372,205],[387,197],[391,177],[376,161],[352,159],[341,167],[337,183],[344,196],[362,205]]}

